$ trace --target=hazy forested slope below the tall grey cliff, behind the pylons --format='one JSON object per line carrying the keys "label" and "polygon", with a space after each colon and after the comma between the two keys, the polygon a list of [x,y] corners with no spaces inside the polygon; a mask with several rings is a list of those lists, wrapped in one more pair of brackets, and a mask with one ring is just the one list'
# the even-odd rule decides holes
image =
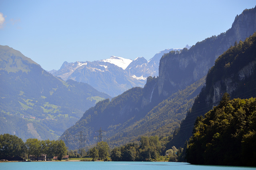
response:
{"label": "hazy forested slope below the tall grey cliff, behind the pylons", "polygon": [[151,100],[150,105],[144,105],[146,98],[152,99],[150,94],[157,80],[156,77],[148,77],[144,88],[134,87],[114,97],[112,101],[106,99],[98,102],[74,126],[68,128],[61,138],[65,140],[65,135],[68,135],[71,140],[69,147],[75,148],[79,144],[72,139],[76,139],[82,131],[94,143],[97,140],[95,136],[98,135],[95,132],[100,127],[106,131],[104,136],[107,138],[104,140],[111,147],[136,141],[141,135],[169,136],[186,117],[186,111],[192,107],[196,95],[204,85],[204,78],[160,103]]}

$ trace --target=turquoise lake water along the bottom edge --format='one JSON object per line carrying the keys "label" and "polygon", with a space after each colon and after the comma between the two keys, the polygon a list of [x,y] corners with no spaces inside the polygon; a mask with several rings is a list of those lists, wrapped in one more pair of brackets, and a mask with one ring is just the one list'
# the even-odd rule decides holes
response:
{"label": "turquoise lake water along the bottom edge", "polygon": [[205,166],[182,162],[2,162],[0,170],[252,170],[256,167]]}

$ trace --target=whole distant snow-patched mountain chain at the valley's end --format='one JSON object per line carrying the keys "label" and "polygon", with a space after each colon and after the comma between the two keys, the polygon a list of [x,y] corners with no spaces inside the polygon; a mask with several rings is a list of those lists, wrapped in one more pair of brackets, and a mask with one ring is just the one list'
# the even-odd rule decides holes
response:
{"label": "whole distant snow-patched mountain chain at the valley's end", "polygon": [[[186,47],[190,48],[188,45]],[[98,91],[114,97],[132,87],[143,87],[148,76],[158,76],[160,58],[164,53],[172,50],[180,49],[165,49],[149,61],[144,57],[138,57],[132,61],[116,56],[92,62],[68,63],[65,61],[58,71],[49,72],[56,77],[61,77],[64,81],[72,79],[88,83]]]}

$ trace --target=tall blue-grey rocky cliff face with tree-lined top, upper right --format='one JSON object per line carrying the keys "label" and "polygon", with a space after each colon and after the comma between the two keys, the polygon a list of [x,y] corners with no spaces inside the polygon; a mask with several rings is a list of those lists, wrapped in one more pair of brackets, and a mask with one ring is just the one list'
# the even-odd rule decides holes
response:
{"label": "tall blue-grey rocky cliff face with tree-lined top, upper right", "polygon": [[255,31],[256,8],[244,10],[236,16],[232,28],[225,33],[198,42],[189,50],[164,55],[159,65],[158,95],[167,97],[202,78],[219,55],[235,42],[244,41]]}

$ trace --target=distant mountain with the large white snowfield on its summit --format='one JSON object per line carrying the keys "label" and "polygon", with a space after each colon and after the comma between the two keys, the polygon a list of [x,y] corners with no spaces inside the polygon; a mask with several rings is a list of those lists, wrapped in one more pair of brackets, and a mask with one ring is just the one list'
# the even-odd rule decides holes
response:
{"label": "distant mountain with the large white snowfield on its summit", "polygon": [[130,62],[132,60],[114,56],[110,59],[93,62],[77,61],[68,63],[65,61],[58,71],[50,71],[50,73],[56,77],[61,77],[65,81],[72,79],[88,83],[98,91],[117,96],[127,89],[135,86],[142,87],[145,84],[143,79],[134,79],[126,73],[124,69]]}

